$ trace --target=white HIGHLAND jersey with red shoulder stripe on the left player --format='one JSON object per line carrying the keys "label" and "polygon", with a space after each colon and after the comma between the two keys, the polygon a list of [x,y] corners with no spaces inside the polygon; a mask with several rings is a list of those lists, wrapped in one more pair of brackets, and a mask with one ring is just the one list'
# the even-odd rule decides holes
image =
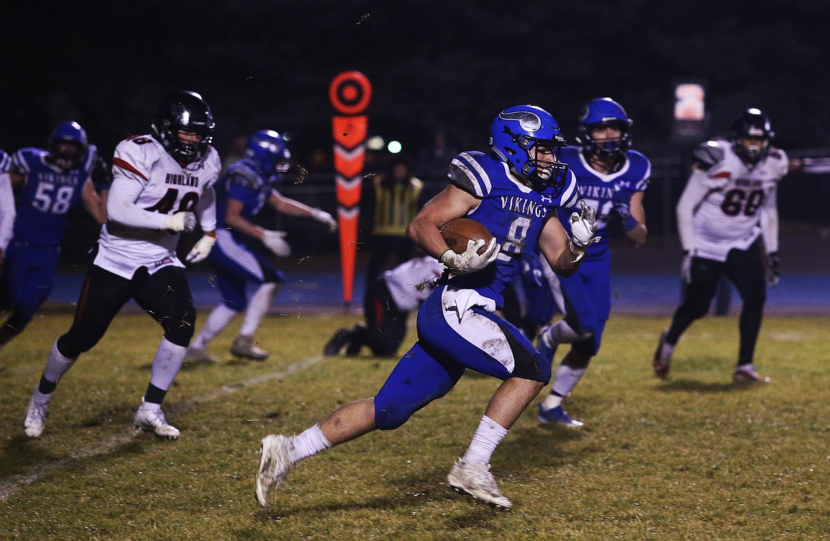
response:
{"label": "white HIGHLAND jersey with red shoulder stripe on the left player", "polygon": [[[212,147],[203,160],[182,166],[152,135],[134,135],[115,147],[110,198],[117,183],[138,183],[138,190],[134,190],[137,198],[124,202],[134,205],[131,212],[165,216],[196,212],[199,197],[216,184],[221,169],[219,154]],[[110,201],[108,209],[115,203]],[[145,219],[153,220],[154,216],[145,215]],[[128,279],[139,267],[146,267],[151,274],[168,265],[184,267],[176,256],[178,237],[167,229],[129,227],[110,215],[101,228],[95,265]]]}

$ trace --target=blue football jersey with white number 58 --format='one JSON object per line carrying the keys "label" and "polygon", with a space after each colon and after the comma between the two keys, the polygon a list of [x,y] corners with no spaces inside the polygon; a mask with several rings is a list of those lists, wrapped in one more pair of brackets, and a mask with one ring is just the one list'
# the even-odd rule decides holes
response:
{"label": "blue football jersey with white number 58", "polygon": [[17,204],[14,239],[56,246],[66,229],[66,214],[81,200],[81,190],[90,181],[98,150],[90,145],[71,170],[49,164],[47,155],[47,150],[24,148],[12,157],[12,168],[26,177]]}

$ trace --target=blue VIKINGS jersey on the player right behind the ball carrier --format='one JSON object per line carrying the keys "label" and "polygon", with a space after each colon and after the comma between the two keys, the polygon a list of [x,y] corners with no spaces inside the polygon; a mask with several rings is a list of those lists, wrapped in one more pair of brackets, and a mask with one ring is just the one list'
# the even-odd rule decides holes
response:
{"label": "blue VIKINGS jersey on the player right behind the ball carrier", "polygon": [[[632,194],[642,192],[648,186],[652,175],[652,164],[637,150],[627,150],[626,160],[619,170],[603,174],[594,170],[579,146],[566,146],[559,152],[559,161],[569,165],[579,184],[579,199],[597,211],[597,234],[602,237],[598,243],[588,247],[587,255],[603,253],[608,249],[608,219],[613,214],[613,199],[630,201]],[[559,220],[570,234],[570,214],[581,212],[578,201],[559,209]]]}

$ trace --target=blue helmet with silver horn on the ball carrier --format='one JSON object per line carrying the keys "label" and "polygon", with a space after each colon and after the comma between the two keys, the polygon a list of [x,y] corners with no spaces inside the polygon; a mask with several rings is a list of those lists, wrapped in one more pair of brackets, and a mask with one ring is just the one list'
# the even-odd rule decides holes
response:
{"label": "blue helmet with silver horn on the ball carrier", "polygon": [[[537,145],[549,148],[554,161],[537,160]],[[490,125],[493,153],[510,167],[510,172],[531,184],[564,187],[568,165],[559,161],[559,148],[565,145],[568,143],[554,117],[537,106],[508,107]]]}

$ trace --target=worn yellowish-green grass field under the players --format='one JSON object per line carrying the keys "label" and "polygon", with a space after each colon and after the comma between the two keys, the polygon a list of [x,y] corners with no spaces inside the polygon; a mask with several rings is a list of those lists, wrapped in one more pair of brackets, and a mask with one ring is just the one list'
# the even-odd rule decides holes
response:
{"label": "worn yellowish-green grass field under the players", "polygon": [[[354,316],[269,317],[266,362],[186,366],[168,393],[178,441],[133,436],[159,328],[116,318],[64,377],[40,439],[22,418],[71,313],[46,312],[0,352],[0,539],[822,539],[830,537],[830,318],[767,317],[768,385],[730,382],[735,317],[679,344],[652,376],[666,320],[613,317],[566,403],[586,425],[540,426],[535,403],[493,457],[512,513],[444,482],[497,381],[468,372],[394,432],[301,463],[271,505],[253,483],[259,440],[371,396],[392,360],[322,358]],[[238,322],[237,322],[238,325]],[[214,343],[227,352],[235,328]],[[544,391],[547,392],[547,391]]]}

